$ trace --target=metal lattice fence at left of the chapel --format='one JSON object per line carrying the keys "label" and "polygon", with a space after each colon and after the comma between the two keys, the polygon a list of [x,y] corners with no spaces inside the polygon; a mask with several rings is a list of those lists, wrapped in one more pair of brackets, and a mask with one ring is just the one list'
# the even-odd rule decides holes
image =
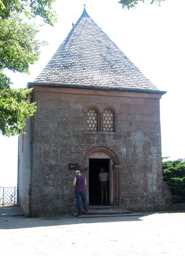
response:
{"label": "metal lattice fence at left of the chapel", "polygon": [[0,205],[16,204],[17,203],[17,188],[0,187]]}

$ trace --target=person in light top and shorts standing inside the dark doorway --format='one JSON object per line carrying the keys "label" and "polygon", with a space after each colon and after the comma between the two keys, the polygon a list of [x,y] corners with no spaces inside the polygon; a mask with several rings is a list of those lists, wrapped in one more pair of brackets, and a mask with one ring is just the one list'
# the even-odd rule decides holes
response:
{"label": "person in light top and shorts standing inside the dark doorway", "polygon": [[105,167],[100,168],[99,178],[100,181],[100,190],[101,190],[101,204],[104,203],[104,191],[105,191],[105,200],[108,204],[108,189],[109,189],[109,173],[105,171]]}

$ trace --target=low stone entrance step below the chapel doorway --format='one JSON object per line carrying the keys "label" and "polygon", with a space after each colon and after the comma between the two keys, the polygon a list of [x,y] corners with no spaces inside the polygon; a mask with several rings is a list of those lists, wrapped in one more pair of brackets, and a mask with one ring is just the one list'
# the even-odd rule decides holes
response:
{"label": "low stone entrance step below the chapel doorway", "polygon": [[[76,216],[76,213],[72,213]],[[89,206],[88,212],[83,212],[81,216],[76,216],[79,218],[92,218],[92,217],[111,217],[111,216],[138,216],[143,215],[140,213],[135,213],[128,211],[124,208],[118,208],[118,206],[109,206],[109,205],[98,205],[98,206]]]}

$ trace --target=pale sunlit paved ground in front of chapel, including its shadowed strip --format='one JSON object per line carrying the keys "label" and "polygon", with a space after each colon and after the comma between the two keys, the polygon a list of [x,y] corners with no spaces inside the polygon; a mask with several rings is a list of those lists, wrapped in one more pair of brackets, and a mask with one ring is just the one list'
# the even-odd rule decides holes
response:
{"label": "pale sunlit paved ground in front of chapel, including its shadowed strip", "polygon": [[4,215],[0,255],[184,256],[185,212],[143,214],[87,219]]}

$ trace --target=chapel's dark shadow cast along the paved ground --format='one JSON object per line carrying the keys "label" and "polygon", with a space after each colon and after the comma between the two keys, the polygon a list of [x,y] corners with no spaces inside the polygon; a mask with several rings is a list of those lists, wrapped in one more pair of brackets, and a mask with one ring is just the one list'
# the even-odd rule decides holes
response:
{"label": "chapel's dark shadow cast along the paved ground", "polygon": [[[4,208],[3,208],[4,207]],[[10,209],[11,208],[11,209]],[[3,214],[2,214],[3,212]],[[143,218],[152,214],[177,213],[185,211],[173,212],[141,212],[141,216],[109,216],[109,217],[94,217],[94,218],[77,218],[72,214],[25,218],[24,212],[20,207],[1,206],[0,207],[0,229],[19,229],[19,228],[35,228],[35,227],[55,227],[62,228],[63,225],[76,225],[82,223],[108,223],[108,222],[124,222],[124,221],[143,221]],[[14,213],[14,214],[13,214]]]}

